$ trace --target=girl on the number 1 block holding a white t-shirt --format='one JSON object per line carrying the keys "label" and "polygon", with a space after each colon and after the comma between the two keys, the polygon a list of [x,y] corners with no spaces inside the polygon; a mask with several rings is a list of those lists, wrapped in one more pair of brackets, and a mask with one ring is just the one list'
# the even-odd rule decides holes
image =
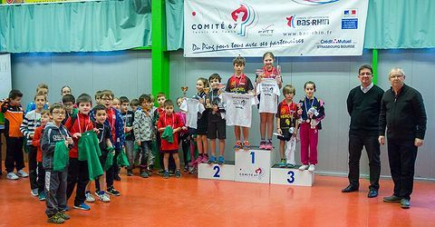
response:
{"label": "girl on the number 1 block holding a white t-shirt", "polygon": [[[279,68],[274,66],[275,56],[272,52],[266,52],[263,54],[263,67],[256,71],[256,86],[267,83],[266,87],[261,87],[258,91],[258,112],[260,113],[260,149],[272,150],[272,134],[274,133],[274,114],[276,114],[277,100],[279,95],[279,89],[283,84],[281,78],[281,72]],[[269,79],[266,80],[265,79]],[[270,79],[275,80],[271,81]],[[273,88],[273,89],[270,89]],[[274,93],[275,92],[275,93]],[[260,95],[262,98],[260,99]],[[266,140],[267,129],[267,140]]]}

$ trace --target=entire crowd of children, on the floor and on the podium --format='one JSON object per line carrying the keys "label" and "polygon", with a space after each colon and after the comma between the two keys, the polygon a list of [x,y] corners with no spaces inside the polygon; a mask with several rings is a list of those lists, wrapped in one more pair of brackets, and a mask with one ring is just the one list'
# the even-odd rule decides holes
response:
{"label": "entire crowd of children, on the floor and on the podium", "polygon": [[[66,202],[74,188],[73,208],[91,209],[85,203],[95,201],[90,180],[95,180],[95,195],[102,202],[110,202],[109,194],[121,195],[114,188],[114,181],[121,180],[119,163],[125,155],[128,163],[120,164],[127,167],[127,175],[133,175],[134,166],[139,164],[143,178],[153,172],[157,156],[162,167],[159,173],[164,178],[181,177],[179,144],[184,154],[185,172],[194,173],[198,163],[224,164],[227,118],[231,114],[234,117],[234,113],[227,109],[223,94],[258,95],[260,149],[273,149],[276,117],[281,167],[295,165],[294,153],[292,157],[287,151],[295,150],[295,137],[300,129],[302,166],[299,169],[314,171],[324,103],[314,96],[315,84],[309,81],[304,84],[304,98],[296,104],[295,87],[287,84],[282,88],[283,80],[279,67],[274,66],[274,54],[267,52],[263,60],[264,66],[256,71],[256,84],[244,74],[246,62],[241,56],[233,60],[234,74],[226,85],[221,84],[219,74],[211,74],[208,79],[198,78],[194,98],[177,99],[181,110],[178,113],[174,111],[174,102],[162,93],[157,95],[159,106],[155,107],[150,94],[130,101],[125,96],[115,98],[110,90],[104,90],[95,94],[96,105],[92,106],[89,94],[81,94],[75,100],[68,86],[61,90],[62,102],[49,105],[48,86],[40,84],[34,102],[27,105],[24,114],[23,94],[12,90],[1,103],[5,114],[7,178],[16,180],[29,176],[32,195],[46,201],[48,222],[62,223],[69,219],[65,213],[69,210]],[[285,98],[278,102],[281,88]],[[248,124],[231,124],[235,126],[235,150],[250,148],[250,109],[248,112],[249,117],[237,116],[247,118]],[[285,143],[288,144],[286,151]],[[29,154],[29,174],[23,171],[23,144]],[[196,149],[198,156],[194,153]]]}

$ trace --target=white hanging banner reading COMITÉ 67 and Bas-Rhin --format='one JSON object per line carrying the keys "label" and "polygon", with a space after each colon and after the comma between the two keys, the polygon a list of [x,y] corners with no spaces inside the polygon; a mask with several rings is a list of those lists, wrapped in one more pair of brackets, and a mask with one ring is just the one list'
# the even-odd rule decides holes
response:
{"label": "white hanging banner reading COMIT\u00c9 67 and Bas-Rhin", "polygon": [[369,0],[185,0],[187,57],[361,55]]}

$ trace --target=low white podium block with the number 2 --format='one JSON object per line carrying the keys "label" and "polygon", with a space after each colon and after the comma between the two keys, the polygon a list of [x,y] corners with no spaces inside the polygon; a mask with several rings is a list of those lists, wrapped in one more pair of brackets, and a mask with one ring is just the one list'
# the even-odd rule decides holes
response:
{"label": "low white podium block with the number 2", "polygon": [[234,163],[219,164],[198,164],[198,178],[221,180],[221,181],[234,181]]}

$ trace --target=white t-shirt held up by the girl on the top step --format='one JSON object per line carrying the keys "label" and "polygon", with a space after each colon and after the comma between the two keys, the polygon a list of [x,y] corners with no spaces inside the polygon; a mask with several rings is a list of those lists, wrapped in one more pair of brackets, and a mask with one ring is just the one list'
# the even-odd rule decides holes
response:
{"label": "white t-shirt held up by the girl on the top step", "polygon": [[276,80],[263,79],[260,84],[256,84],[256,94],[261,95],[258,112],[276,114],[278,96],[281,95]]}

